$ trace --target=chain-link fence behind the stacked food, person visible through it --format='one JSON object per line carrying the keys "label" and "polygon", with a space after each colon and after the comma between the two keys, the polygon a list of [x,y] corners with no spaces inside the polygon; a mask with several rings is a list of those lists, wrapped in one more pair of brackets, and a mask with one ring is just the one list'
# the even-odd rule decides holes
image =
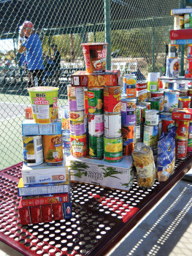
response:
{"label": "chain-link fence behind the stacked food, person visible through it", "polygon": [[[70,75],[85,69],[81,43],[105,42],[106,1],[110,4],[111,68],[120,69],[122,76],[139,72],[143,79],[147,72],[164,74],[165,43],[174,21],[170,14],[180,7],[179,0],[0,1],[0,169],[22,161],[21,127],[30,105],[28,81],[36,86],[41,78],[47,86],[59,86],[58,106],[66,105]],[[26,20],[32,25],[27,23],[22,30]],[[61,60],[54,59],[57,50]],[[30,58],[37,67],[31,69]],[[43,69],[40,78],[33,69]]]}

